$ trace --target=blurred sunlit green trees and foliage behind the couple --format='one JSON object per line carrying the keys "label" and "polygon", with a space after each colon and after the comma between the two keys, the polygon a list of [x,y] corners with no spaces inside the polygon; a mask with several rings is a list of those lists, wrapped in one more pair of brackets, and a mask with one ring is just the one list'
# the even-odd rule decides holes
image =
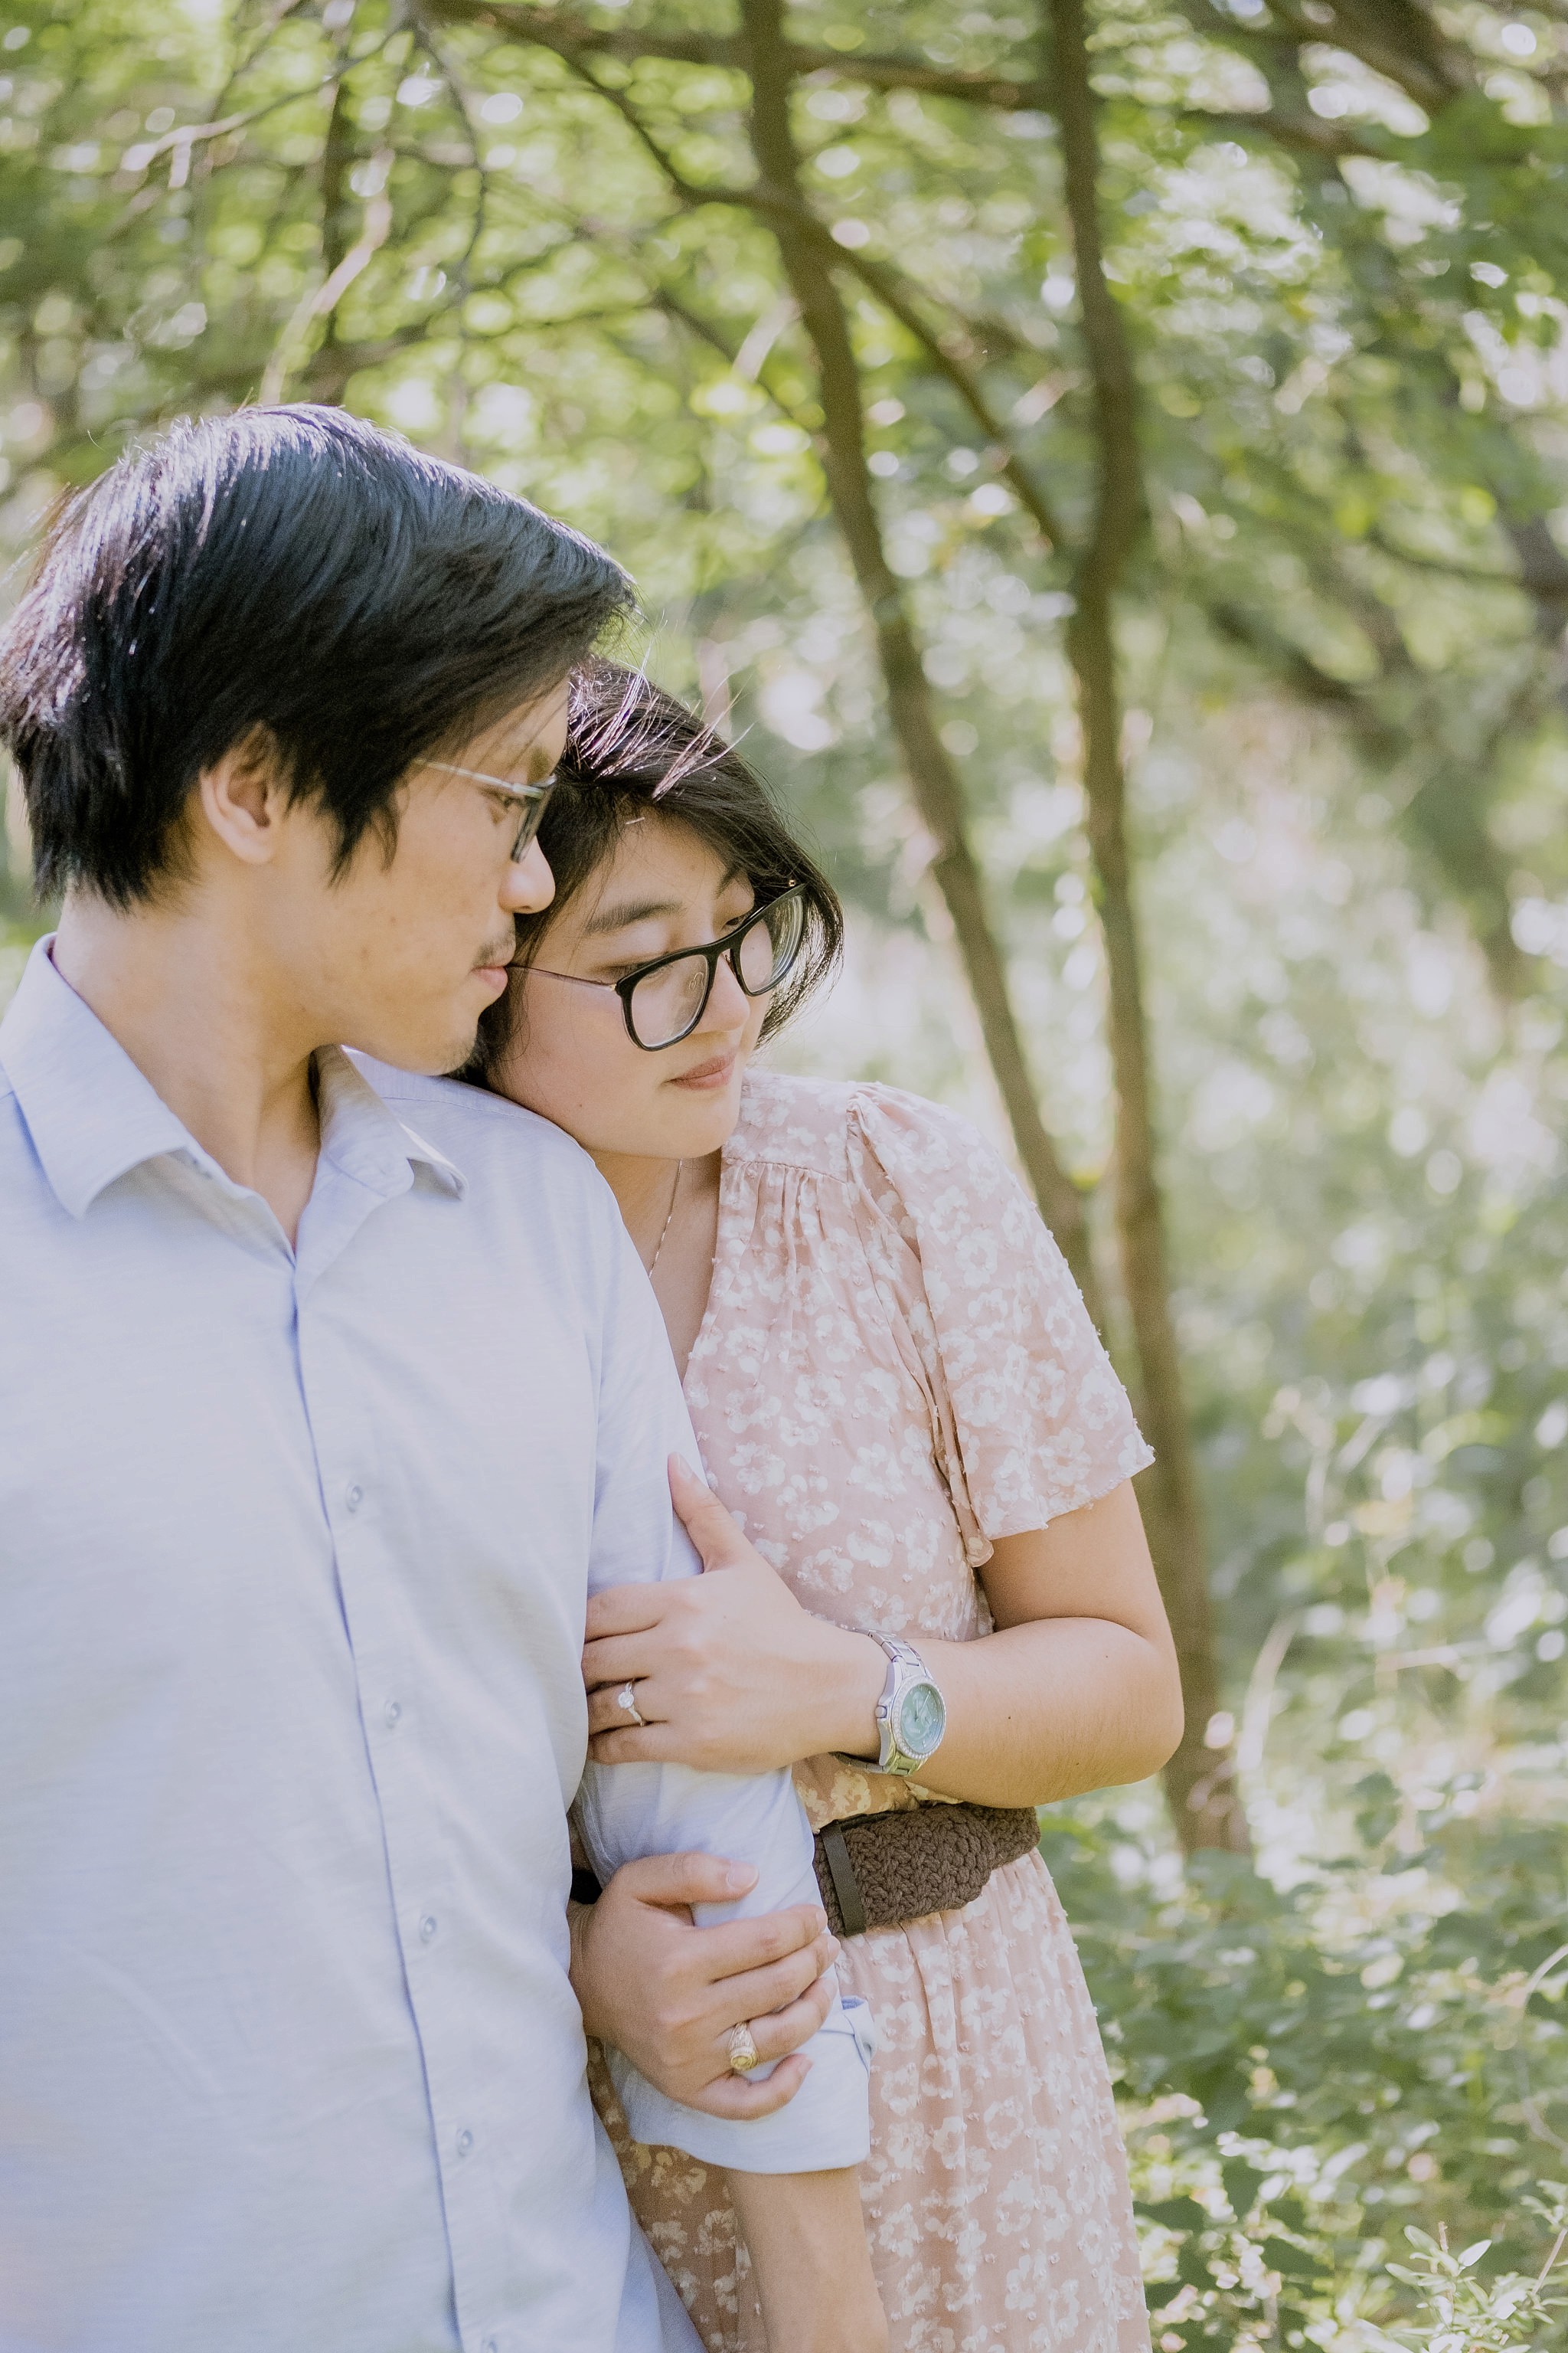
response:
{"label": "blurred sunlit green trees and foliage behind the couple", "polygon": [[1161,2353],[1568,2341],[1568,9],[0,0],[0,193],[12,593],[254,398],[571,518],[851,904],[780,1056],[1034,1184],[1190,1701],[1046,1817]]}

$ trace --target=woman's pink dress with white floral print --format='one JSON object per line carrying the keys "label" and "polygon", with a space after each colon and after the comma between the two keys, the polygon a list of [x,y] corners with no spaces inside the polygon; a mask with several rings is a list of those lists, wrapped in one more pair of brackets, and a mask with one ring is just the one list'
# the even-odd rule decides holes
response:
{"label": "woman's pink dress with white floral print", "polygon": [[[724,1151],[686,1402],[708,1475],[806,1609],[966,1642],[992,1539],[1152,1459],[1065,1261],[987,1144],[912,1094],[755,1071]],[[811,1758],[813,1828],[940,1802]],[[865,2219],[893,2353],[1147,2353],[1110,2075],[1039,1854],[844,1944],[877,2021]],[[595,2099],[710,2353],[766,2339],[724,2181]]]}

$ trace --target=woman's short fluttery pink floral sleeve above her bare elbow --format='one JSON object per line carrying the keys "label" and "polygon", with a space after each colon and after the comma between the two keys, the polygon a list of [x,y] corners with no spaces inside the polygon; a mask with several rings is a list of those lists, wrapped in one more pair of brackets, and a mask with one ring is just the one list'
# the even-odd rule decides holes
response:
{"label": "woman's short fluttery pink floral sleeve above her bare elbow", "polygon": [[938,1104],[863,1087],[849,1153],[971,1565],[1145,1471],[1154,1454],[1067,1261],[992,1146]]}

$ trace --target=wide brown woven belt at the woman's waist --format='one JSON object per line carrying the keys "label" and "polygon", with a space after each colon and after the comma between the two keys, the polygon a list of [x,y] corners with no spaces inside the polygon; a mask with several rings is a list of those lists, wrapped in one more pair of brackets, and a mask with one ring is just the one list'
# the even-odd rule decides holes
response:
{"label": "wide brown woven belt at the woman's waist", "polygon": [[816,1833],[816,1885],[835,1937],[973,1904],[992,1871],[1039,1845],[1032,1805],[917,1805]]}

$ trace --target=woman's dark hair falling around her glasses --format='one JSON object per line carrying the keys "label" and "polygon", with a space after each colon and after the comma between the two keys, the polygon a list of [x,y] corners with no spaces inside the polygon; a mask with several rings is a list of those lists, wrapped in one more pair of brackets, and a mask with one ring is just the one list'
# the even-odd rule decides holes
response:
{"label": "woman's dark hair falling around her glasses", "polygon": [[[538,828],[555,875],[555,899],[541,915],[517,918],[517,965],[527,969],[538,958],[550,925],[614,854],[623,828],[649,809],[679,819],[717,852],[726,871],[743,873],[757,906],[792,882],[804,885],[806,939],[795,969],[769,1002],[762,1035],[771,1038],[839,960],[839,894],[790,833],[766,784],[733,744],[618,661],[595,656],[571,678],[567,751]],[[520,1024],[522,988],[512,981],[480,1016],[475,1054],[461,1075],[480,1087],[494,1085]]]}

